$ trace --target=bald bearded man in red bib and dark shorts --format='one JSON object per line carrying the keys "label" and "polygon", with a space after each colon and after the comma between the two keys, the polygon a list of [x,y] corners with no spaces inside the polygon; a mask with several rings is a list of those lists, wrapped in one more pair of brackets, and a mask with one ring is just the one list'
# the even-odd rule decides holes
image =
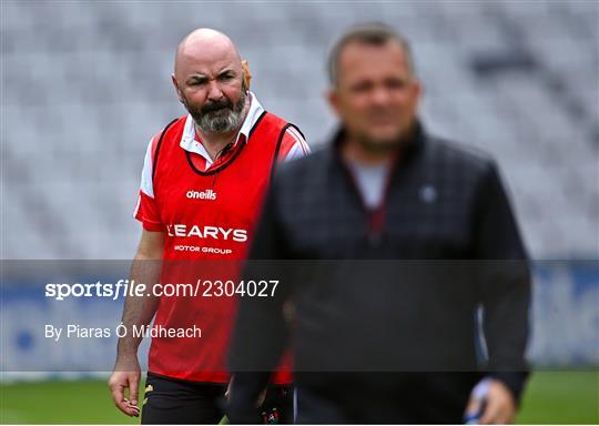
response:
{"label": "bald bearded man in red bib and dark shorts", "polygon": [[[166,297],[152,284],[195,284],[206,274],[236,280],[234,266],[206,265],[245,260],[277,164],[309,150],[296,126],[265,111],[250,91],[247,62],[225,34],[212,29],[187,34],[176,49],[171,78],[187,114],[150,140],[134,212],[142,236],[130,282],[148,284],[152,295],[125,300],[128,333],[119,338],[109,387],[121,412],[139,416],[142,337],[135,329],[152,321],[165,331],[201,327],[201,336],[152,336],[142,424],[215,424],[224,415],[231,378],[225,361],[234,297],[216,287],[211,297],[204,297],[204,287],[202,297]],[[256,414],[271,423],[288,422],[290,383],[288,374],[275,376]]]}

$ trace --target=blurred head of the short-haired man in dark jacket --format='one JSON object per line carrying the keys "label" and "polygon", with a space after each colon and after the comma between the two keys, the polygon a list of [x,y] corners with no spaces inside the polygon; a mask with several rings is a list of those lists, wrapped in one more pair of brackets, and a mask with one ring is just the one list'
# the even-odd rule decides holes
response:
{"label": "blurred head of the short-haired man in dark jacket", "polygon": [[383,24],[349,30],[331,52],[328,73],[328,100],[348,139],[383,153],[410,134],[422,89],[400,34]]}

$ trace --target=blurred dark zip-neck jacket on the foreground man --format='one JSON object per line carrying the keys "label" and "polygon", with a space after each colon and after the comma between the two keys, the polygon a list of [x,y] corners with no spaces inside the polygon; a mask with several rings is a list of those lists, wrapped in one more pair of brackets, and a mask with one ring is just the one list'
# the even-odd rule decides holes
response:
{"label": "blurred dark zip-neck jacket on the foreground man", "polygon": [[[341,159],[343,140],[342,130],[285,165],[272,185],[251,258],[294,261],[248,264],[246,277],[278,274],[286,286],[268,301],[242,301],[232,371],[276,365],[288,334],[281,306],[292,300],[298,372],[485,369],[518,398],[530,280],[495,163],[418,125],[384,205],[368,211]],[[475,339],[478,306],[485,359]],[[460,400],[480,377],[466,376]],[[252,387],[242,389],[242,377],[240,395]],[[301,374],[296,381],[311,386]]]}

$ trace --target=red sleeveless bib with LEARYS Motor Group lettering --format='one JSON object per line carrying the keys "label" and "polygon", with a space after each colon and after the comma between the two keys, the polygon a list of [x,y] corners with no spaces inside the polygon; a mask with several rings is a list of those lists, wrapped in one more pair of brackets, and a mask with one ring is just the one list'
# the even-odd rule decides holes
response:
{"label": "red sleeveless bib with LEARYS Motor Group lettering", "polygon": [[[161,284],[185,283],[194,295],[162,296],[154,328],[201,328],[201,337],[152,338],[149,371],[194,382],[229,382],[226,349],[236,310],[235,296],[214,294],[206,281],[240,282],[278,148],[291,125],[264,112],[248,140],[242,135],[227,162],[199,170],[194,153],[180,146],[185,118],[171,123],[156,146],[154,200],[165,225]],[[203,285],[197,284],[202,280]],[[288,383],[280,373],[275,383]]]}

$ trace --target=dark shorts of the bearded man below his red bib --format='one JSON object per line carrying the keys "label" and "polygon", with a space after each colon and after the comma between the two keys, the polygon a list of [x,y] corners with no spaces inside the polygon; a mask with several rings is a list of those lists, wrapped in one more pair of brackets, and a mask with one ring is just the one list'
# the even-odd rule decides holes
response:
{"label": "dark shorts of the bearded man below his red bib", "polygon": [[[217,424],[225,415],[225,392],[224,384],[187,382],[148,373],[141,423]],[[292,423],[292,392],[283,386],[270,387],[257,412],[265,424]]]}

